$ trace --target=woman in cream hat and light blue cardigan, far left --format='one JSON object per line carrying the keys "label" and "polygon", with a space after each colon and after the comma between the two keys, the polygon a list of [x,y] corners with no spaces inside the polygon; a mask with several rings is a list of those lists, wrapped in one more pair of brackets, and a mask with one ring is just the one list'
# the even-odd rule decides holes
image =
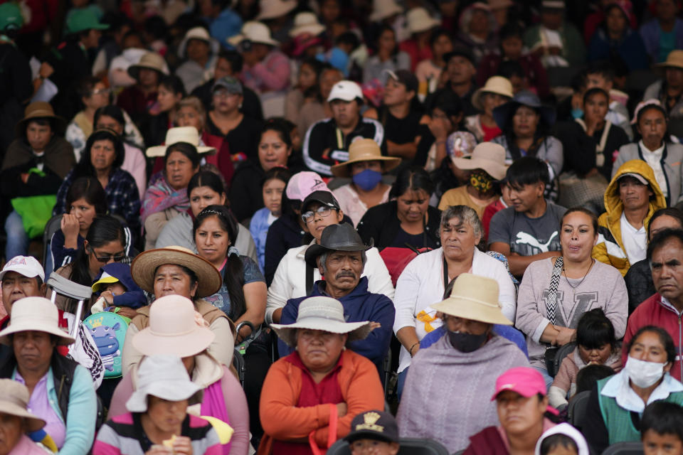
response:
{"label": "woman in cream hat and light blue cardigan, far left", "polygon": [[58,323],[57,308],[48,299],[14,302],[10,325],[0,331],[0,343],[12,350],[0,365],[0,378],[26,385],[31,408],[46,422],[43,429],[60,453],[85,454],[95,439],[95,387],[88,370],[55,349],[74,342]]}

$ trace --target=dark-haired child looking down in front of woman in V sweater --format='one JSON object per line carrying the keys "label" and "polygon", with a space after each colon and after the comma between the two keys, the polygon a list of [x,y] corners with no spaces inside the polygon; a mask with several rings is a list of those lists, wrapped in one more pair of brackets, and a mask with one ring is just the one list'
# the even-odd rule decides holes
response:
{"label": "dark-haired child looking down in front of woman in V sweater", "polygon": [[576,349],[567,355],[549,390],[550,405],[560,407],[576,394],[576,374],[587,365],[608,365],[621,370],[621,349],[617,346],[614,327],[602,309],[586,311],[578,320]]}

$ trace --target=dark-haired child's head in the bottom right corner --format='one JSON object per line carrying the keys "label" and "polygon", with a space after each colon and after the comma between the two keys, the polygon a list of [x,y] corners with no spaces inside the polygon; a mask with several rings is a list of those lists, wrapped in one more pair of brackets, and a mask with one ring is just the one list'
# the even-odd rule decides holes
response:
{"label": "dark-haired child's head in the bottom right corner", "polygon": [[683,407],[655,401],[640,419],[642,450],[645,455],[683,455]]}

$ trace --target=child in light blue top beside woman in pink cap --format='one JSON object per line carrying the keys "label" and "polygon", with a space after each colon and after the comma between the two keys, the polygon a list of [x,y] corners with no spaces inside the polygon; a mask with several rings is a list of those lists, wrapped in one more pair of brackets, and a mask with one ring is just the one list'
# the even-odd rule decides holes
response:
{"label": "child in light blue top beside woman in pink cap", "polygon": [[263,272],[265,264],[265,238],[268,236],[268,228],[282,214],[282,193],[285,191],[290,176],[290,171],[287,168],[276,166],[265,173],[263,183],[261,183],[265,207],[257,210],[249,223],[249,230],[256,244],[258,267],[260,267],[261,272]]}

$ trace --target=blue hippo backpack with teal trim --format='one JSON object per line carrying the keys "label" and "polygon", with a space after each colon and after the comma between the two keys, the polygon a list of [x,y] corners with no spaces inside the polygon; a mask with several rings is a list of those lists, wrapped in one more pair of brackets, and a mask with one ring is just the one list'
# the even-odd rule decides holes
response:
{"label": "blue hippo backpack with teal trim", "polygon": [[83,323],[90,330],[100,351],[105,378],[120,378],[122,375],[122,351],[130,319],[109,311],[91,314]]}

